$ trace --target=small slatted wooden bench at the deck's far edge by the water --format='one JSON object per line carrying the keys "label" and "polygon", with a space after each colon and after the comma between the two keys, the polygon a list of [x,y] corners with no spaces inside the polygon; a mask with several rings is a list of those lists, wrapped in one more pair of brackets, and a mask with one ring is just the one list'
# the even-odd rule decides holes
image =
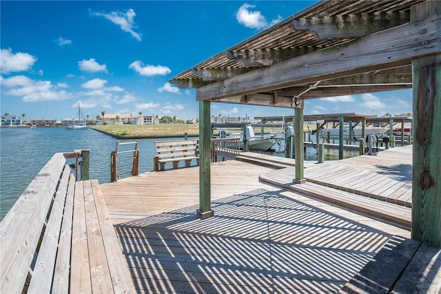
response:
{"label": "small slatted wooden bench at the deck's far edge by the water", "polygon": [[190,167],[192,160],[199,165],[198,140],[161,141],[155,142],[156,156],[153,158],[153,170],[165,170],[165,163],[172,162],[177,169],[180,161],[185,162],[185,167]]}

